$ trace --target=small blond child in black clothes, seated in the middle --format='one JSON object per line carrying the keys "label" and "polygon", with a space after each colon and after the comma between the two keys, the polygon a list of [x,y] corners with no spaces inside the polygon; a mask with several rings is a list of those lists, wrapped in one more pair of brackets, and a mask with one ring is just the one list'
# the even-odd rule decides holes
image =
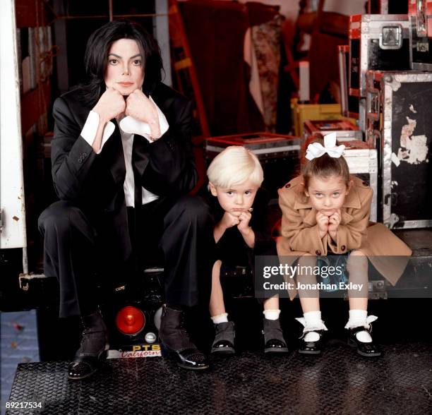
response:
{"label": "small blond child in black clothes, seated in the middle", "polygon": [[[254,255],[276,255],[267,227],[267,193],[260,188],[263,169],[256,155],[241,146],[222,151],[208,167],[206,197],[215,219],[215,263],[212,270],[210,315],[215,324],[212,353],[234,354],[234,323],[228,320],[220,273],[244,265],[253,270]],[[279,298],[264,301],[264,351],[287,352],[279,322]]]}

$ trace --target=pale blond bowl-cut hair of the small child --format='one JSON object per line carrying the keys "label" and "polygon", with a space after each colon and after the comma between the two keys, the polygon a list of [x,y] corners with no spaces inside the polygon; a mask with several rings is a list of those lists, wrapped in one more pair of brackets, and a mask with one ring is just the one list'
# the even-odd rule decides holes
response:
{"label": "pale blond bowl-cut hair of the small child", "polygon": [[211,184],[222,188],[248,180],[260,186],[264,180],[258,157],[241,145],[231,145],[220,152],[210,163],[207,176]]}

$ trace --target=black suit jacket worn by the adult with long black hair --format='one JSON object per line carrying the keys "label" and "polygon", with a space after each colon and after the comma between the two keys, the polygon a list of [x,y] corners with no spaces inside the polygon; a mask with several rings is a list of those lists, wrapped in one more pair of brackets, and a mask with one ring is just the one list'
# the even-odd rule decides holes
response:
{"label": "black suit jacket worn by the adult with long black hair", "polygon": [[[52,176],[56,193],[82,209],[95,229],[109,236],[113,253],[126,260],[131,253],[124,198],[126,166],[119,126],[97,155],[80,136],[91,110],[83,104],[77,88],[54,102]],[[160,83],[152,99],[167,118],[169,129],[159,140],[148,143],[135,136],[133,167],[136,186],[144,186],[163,198],[176,198],[191,191],[197,181],[191,146],[191,103],[183,95]],[[139,181],[139,183],[137,183]]]}

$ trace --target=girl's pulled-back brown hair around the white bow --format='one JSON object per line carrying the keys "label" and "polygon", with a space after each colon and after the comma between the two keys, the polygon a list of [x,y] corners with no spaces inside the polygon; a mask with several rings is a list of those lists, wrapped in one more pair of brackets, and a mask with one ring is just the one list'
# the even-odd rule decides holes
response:
{"label": "girl's pulled-back brown hair around the white bow", "polygon": [[[324,145],[324,137],[320,133],[315,133],[307,140],[307,145],[311,143],[320,143]],[[307,148],[306,145],[306,148]],[[321,157],[316,157],[313,160],[304,158],[304,163],[301,166],[301,175],[304,180],[304,187],[307,189],[309,179],[313,176],[330,177],[341,176],[345,184],[349,186],[349,169],[347,161],[344,157],[330,157],[327,153]]]}

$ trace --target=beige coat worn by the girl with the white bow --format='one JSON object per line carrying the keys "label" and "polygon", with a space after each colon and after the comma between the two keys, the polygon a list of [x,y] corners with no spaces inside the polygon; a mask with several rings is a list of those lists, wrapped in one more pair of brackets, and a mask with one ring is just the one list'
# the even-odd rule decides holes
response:
{"label": "beige coat worn by the girl with the white bow", "polygon": [[[337,228],[337,241],[329,234],[319,237],[316,210],[304,193],[301,176],[279,189],[282,229],[277,238],[277,254],[281,263],[292,265],[305,253],[327,255],[359,249],[385,279],[395,285],[407,266],[409,247],[383,224],[369,222],[373,191],[364,181],[352,176],[354,184],[342,205],[342,219]],[[289,255],[289,256],[288,256]],[[388,256],[400,255],[395,258]],[[293,298],[294,293],[290,293]]]}

